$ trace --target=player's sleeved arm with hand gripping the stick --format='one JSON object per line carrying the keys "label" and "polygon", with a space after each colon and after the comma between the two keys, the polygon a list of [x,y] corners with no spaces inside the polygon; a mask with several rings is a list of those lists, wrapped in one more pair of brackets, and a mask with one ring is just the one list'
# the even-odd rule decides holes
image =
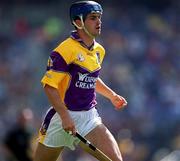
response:
{"label": "player's sleeved arm with hand gripping the stick", "polygon": [[71,55],[67,54],[67,50],[62,49],[63,47],[60,46],[60,49],[51,53],[48,60],[47,71],[41,82],[49,102],[62,120],[62,127],[65,131],[71,131],[75,134],[74,122],[62,100],[62,96],[60,95],[63,91],[60,91],[62,89],[60,89],[59,86],[62,83],[62,80],[67,76],[68,64],[71,61]]}

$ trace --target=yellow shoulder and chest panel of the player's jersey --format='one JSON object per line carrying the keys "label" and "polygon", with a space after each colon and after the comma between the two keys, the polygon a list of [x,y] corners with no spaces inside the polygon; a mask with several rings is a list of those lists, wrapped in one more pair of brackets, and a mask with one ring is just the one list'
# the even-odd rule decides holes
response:
{"label": "yellow shoulder and chest panel of the player's jersey", "polygon": [[61,54],[67,64],[77,64],[90,72],[101,68],[105,55],[104,48],[97,42],[95,42],[94,48],[91,51],[72,38],[65,40],[55,51]]}

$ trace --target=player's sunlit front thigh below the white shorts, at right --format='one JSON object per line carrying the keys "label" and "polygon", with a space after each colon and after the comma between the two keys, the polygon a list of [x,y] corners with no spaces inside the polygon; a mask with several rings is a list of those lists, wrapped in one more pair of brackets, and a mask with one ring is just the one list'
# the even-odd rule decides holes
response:
{"label": "player's sunlit front thigh below the white shorts, at right", "polygon": [[122,161],[121,152],[115,138],[103,124],[93,129],[86,135],[86,138],[113,161]]}

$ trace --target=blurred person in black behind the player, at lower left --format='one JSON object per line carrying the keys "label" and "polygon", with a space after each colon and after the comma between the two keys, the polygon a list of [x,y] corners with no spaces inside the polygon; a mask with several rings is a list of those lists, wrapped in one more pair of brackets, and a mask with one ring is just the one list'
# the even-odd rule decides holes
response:
{"label": "blurred person in black behind the player, at lower left", "polygon": [[7,133],[4,144],[10,154],[8,161],[32,161],[31,133],[27,126],[32,117],[30,109],[23,109],[18,115],[17,123]]}

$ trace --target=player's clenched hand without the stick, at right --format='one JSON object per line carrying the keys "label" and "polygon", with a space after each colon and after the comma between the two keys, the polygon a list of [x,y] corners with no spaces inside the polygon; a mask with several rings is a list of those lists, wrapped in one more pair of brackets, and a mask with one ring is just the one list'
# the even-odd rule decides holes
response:
{"label": "player's clenched hand without the stick, at right", "polygon": [[111,97],[111,102],[116,109],[121,109],[127,105],[126,99],[118,94],[115,94]]}

